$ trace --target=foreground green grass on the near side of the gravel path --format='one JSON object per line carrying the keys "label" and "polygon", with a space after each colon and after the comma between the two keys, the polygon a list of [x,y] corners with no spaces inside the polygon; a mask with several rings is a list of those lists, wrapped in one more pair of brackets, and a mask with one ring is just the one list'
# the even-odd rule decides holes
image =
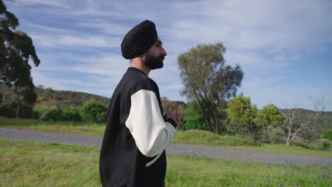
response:
{"label": "foreground green grass on the near side of the gravel path", "polygon": [[[99,148],[0,139],[0,186],[100,186]],[[332,169],[167,155],[167,187],[331,186]]]}

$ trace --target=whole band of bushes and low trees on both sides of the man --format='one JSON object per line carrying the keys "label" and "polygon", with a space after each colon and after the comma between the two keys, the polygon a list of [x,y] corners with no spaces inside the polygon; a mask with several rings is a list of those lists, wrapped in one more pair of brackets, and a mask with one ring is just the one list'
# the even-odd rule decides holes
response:
{"label": "whole band of bushes and low trees on both sides of the man", "polygon": [[[92,94],[55,91],[50,88],[44,89],[43,86],[38,86],[36,90],[35,96],[26,96],[21,102],[19,118],[53,121],[89,120],[96,123],[106,123],[109,98],[97,96],[99,100],[96,100],[96,96]],[[13,93],[10,94],[11,89],[5,85],[0,86],[0,91],[0,115],[6,118],[16,118],[17,96]],[[162,97],[161,101],[164,111],[167,108],[172,108],[182,112],[182,125],[179,125],[179,130],[215,132],[214,121],[211,120],[208,123],[198,101],[184,103],[183,101],[170,101],[167,97]],[[82,104],[79,105],[79,103]],[[285,116],[292,115],[292,109],[279,109],[271,104],[258,110],[257,106],[251,103],[250,97],[245,97],[243,94],[228,100],[226,109],[219,112],[225,116],[225,118],[218,120],[219,135],[249,137],[256,142],[271,144],[286,144],[287,135],[294,133],[301,124],[310,121],[316,114],[315,111],[297,109],[294,113],[294,126],[289,133],[287,128],[284,128],[284,124],[287,123]],[[322,113],[319,119],[301,130],[289,145],[327,149],[332,140],[331,126],[332,113]]]}

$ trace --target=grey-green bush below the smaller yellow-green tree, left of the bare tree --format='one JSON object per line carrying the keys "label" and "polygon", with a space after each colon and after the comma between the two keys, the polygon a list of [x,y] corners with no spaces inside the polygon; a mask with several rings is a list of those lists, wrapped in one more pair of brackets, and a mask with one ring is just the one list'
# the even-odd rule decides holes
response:
{"label": "grey-green bush below the smaller yellow-green tree, left of the bare tree", "polygon": [[262,130],[261,140],[272,144],[284,143],[284,130],[280,127],[273,128],[271,125]]}

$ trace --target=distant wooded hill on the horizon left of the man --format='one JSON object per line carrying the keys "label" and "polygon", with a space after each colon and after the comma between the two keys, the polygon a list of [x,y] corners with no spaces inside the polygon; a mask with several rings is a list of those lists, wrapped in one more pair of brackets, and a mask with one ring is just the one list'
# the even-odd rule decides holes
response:
{"label": "distant wooded hill on the horizon left of the man", "polygon": [[[0,93],[4,95],[4,101],[11,101],[13,92],[8,86],[0,83]],[[43,86],[35,87],[35,94],[41,99],[52,99],[57,101],[61,108],[68,106],[80,107],[85,101],[94,99],[108,106],[111,98],[97,96],[94,94],[87,94],[79,91],[57,91],[50,88],[43,88]]]}

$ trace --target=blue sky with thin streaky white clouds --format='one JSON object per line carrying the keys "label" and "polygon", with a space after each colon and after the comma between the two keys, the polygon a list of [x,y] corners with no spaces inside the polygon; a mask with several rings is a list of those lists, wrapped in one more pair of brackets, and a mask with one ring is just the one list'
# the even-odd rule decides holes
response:
{"label": "blue sky with thin streaky white clouds", "polygon": [[[110,98],[129,66],[121,41],[135,25],[153,21],[167,51],[150,72],[160,96],[184,101],[177,57],[199,44],[222,42],[226,64],[239,64],[237,94],[262,108],[314,110],[324,96],[332,111],[332,1],[5,0],[17,30],[33,39],[40,65],[35,86]],[[31,63],[32,64],[32,63]]]}

